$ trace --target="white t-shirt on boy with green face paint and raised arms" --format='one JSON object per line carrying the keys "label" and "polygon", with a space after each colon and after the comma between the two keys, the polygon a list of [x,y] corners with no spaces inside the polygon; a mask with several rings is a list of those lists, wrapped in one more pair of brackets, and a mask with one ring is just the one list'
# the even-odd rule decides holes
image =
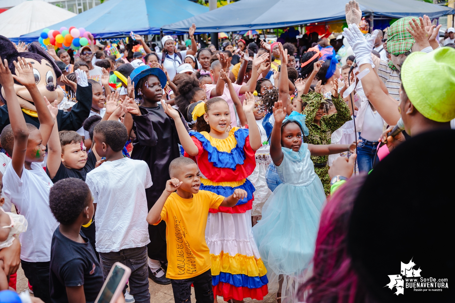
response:
{"label": "white t-shirt on boy with green face paint and raised arms", "polygon": [[52,181],[41,163],[33,162],[31,169],[23,169],[22,177],[16,174],[13,165],[6,167],[3,190],[28,222],[25,233],[19,235],[22,248],[20,259],[27,262],[51,260],[52,235],[58,222],[49,208],[49,191]]}

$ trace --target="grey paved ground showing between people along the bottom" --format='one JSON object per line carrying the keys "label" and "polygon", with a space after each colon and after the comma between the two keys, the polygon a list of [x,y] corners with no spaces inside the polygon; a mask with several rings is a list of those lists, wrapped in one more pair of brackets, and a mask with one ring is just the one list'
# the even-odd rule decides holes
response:
{"label": "grey paved ground showing between people along the bottom", "polygon": [[[172,286],[169,285],[159,285],[152,281],[152,279],[148,279],[149,281],[149,290],[150,290],[150,303],[172,303],[174,302],[174,296],[172,295]],[[17,271],[17,292],[21,293],[23,291],[28,291],[28,280],[25,278],[24,271],[22,268],[19,268]],[[194,289],[191,290],[191,301],[194,303],[196,302],[196,298],[194,297]],[[217,298],[218,303],[223,303],[223,298]],[[253,300],[253,299],[245,299],[246,303],[276,303],[276,289],[269,289],[268,295],[262,300]]]}

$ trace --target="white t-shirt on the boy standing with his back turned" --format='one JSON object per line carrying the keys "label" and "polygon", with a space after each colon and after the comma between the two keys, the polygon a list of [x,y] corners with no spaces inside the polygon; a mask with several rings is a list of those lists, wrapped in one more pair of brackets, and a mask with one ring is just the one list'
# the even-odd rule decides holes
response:
{"label": "white t-shirt on the boy standing with his back turned", "polygon": [[87,174],[96,203],[96,251],[118,252],[150,243],[145,189],[152,186],[145,161],[106,161]]}

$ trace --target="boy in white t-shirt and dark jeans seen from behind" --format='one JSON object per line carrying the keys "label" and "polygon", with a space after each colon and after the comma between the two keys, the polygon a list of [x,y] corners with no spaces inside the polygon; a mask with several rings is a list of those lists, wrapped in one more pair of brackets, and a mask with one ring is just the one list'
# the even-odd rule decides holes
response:
{"label": "boy in white t-shirt and dark jeans seen from behind", "polygon": [[[118,121],[101,121],[93,132],[94,149],[106,161],[86,176],[96,205],[96,251],[104,278],[112,264],[131,268],[130,294],[136,303],[150,302],[147,275],[147,224],[145,189],[152,186],[145,161],[123,157],[128,134]],[[126,286],[123,289],[125,293]]]}

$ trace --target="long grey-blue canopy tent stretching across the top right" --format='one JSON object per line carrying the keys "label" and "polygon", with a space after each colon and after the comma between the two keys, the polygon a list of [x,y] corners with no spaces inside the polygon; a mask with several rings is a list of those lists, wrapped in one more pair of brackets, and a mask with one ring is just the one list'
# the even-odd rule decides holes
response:
{"label": "long grey-blue canopy tent stretching across the top right", "polygon": [[[172,24],[163,30],[188,31],[192,23],[200,32],[270,29],[314,22],[344,20],[348,0],[242,0]],[[417,0],[358,0],[363,15],[402,18],[428,15],[430,19],[455,13],[453,8]]]}

